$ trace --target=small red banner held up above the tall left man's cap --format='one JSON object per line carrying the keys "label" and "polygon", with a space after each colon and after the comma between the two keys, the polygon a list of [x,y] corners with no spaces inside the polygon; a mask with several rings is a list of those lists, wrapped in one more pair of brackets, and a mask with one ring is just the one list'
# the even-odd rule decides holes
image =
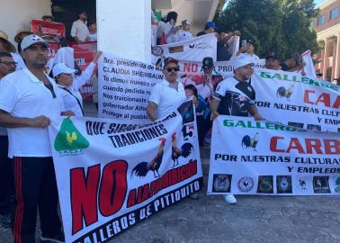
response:
{"label": "small red banner held up above the tall left man's cap", "polygon": [[66,29],[64,23],[32,20],[31,31],[33,33],[42,33],[44,36],[66,36]]}

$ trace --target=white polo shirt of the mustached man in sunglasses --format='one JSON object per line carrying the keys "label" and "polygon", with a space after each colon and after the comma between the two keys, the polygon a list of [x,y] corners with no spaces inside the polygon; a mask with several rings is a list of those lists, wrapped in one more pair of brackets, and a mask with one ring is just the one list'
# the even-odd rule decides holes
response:
{"label": "white polo shirt of the mustached man in sunglasses", "polygon": [[184,86],[181,82],[177,83],[178,87],[176,89],[164,79],[152,88],[148,101],[157,104],[157,119],[166,117],[166,115],[174,112],[181,103],[185,102]]}

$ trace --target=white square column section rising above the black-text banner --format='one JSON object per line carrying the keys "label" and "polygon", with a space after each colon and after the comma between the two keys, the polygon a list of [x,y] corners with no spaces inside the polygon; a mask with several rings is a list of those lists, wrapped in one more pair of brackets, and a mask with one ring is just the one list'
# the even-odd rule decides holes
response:
{"label": "white square column section rising above the black-text banner", "polygon": [[98,49],[151,62],[151,0],[97,0]]}

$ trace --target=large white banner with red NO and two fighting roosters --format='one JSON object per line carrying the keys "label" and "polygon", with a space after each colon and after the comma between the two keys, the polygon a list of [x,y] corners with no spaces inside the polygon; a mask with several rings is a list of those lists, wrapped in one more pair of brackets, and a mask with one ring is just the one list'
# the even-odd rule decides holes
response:
{"label": "large white banner with red NO and two fighting roosters", "polygon": [[202,188],[192,101],[147,124],[71,117],[49,126],[66,242],[109,240]]}

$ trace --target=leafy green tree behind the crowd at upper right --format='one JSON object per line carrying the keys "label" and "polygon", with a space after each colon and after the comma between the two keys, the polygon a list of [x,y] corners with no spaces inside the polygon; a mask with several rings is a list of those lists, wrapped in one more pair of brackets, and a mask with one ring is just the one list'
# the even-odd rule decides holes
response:
{"label": "leafy green tree behind the crowd at upper right", "polygon": [[318,16],[313,0],[230,0],[215,22],[221,31],[241,31],[255,41],[260,57],[275,51],[283,60],[307,49],[318,52],[316,31],[309,24]]}

